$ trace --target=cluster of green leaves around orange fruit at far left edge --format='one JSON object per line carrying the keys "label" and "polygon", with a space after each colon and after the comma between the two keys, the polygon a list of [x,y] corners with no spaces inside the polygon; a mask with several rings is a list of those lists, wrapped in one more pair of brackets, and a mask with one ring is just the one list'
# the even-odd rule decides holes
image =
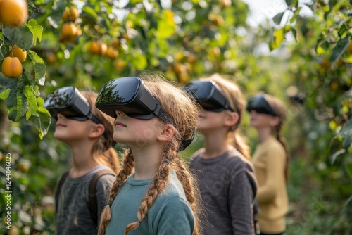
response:
{"label": "cluster of green leaves around orange fruit at far left edge", "polygon": [[8,54],[10,46],[18,46],[27,51],[31,65],[24,69],[19,80],[11,80],[0,76],[0,97],[6,100],[8,118],[18,122],[26,115],[27,120],[34,122],[42,138],[50,125],[50,114],[43,108],[44,100],[39,96],[39,86],[45,82],[46,66],[37,53],[30,48],[42,39],[42,26],[31,19],[20,27],[3,25],[0,33],[0,61]]}

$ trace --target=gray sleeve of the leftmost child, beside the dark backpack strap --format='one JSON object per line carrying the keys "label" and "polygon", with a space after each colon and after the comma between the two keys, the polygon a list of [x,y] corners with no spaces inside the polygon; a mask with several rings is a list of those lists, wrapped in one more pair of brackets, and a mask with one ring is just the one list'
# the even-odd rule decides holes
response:
{"label": "gray sleeve of the leftmost child, beside the dark backpack strap", "polygon": [[96,182],[96,203],[98,204],[98,223],[100,221],[101,212],[108,203],[111,186],[115,182],[115,176],[112,174],[105,174]]}

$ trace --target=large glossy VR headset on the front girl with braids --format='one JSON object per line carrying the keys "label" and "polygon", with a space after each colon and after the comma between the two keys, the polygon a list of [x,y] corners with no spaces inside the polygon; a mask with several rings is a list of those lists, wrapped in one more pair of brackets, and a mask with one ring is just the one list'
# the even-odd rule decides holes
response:
{"label": "large glossy VR headset on the front girl with braids", "polygon": [[[115,110],[126,113],[131,118],[152,119],[160,118],[165,123],[173,124],[172,118],[161,108],[161,104],[154,97],[139,77],[121,77],[111,80],[103,86],[96,108],[115,118]],[[183,139],[179,151],[184,150],[193,141],[196,132],[190,139]]]}

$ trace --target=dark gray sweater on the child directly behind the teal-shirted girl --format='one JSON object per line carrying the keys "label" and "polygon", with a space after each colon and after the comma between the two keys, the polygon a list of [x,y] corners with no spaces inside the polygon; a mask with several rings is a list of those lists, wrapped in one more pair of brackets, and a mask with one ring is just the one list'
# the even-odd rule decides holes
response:
{"label": "dark gray sweater on the child directly behind the teal-shirted girl", "polygon": [[236,149],[216,158],[201,158],[204,148],[191,156],[205,205],[204,235],[254,234],[253,201],[257,184],[253,165]]}

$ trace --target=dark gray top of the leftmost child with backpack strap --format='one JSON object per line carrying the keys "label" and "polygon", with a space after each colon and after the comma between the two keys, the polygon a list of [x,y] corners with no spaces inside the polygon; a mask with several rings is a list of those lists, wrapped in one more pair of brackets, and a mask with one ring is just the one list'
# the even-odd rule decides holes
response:
{"label": "dark gray top of the leftmost child with backpack strap", "polygon": [[[99,170],[109,169],[106,166],[94,168],[82,177],[72,178],[70,174],[61,186],[60,195],[55,191],[56,234],[97,234],[97,224],[94,223],[88,207],[88,190],[93,175]],[[115,181],[111,174],[103,175],[96,182],[96,201],[98,203],[98,221],[100,214]]]}

